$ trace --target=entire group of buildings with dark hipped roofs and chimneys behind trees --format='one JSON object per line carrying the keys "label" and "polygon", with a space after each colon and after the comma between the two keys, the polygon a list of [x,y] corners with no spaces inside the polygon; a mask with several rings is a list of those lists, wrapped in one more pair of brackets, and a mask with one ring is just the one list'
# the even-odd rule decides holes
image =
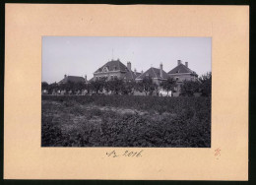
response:
{"label": "entire group of buildings with dark hipped roofs and chimneys behind trees", "polygon": [[174,96],[178,96],[180,94],[180,89],[183,82],[196,81],[198,79],[198,75],[196,72],[188,68],[188,62],[182,64],[181,60],[177,60],[177,66],[170,70],[168,73],[162,69],[161,63],[160,68],[151,67],[146,72],[138,73],[136,70],[132,71],[131,62],[127,62],[127,65],[125,66],[119,59],[117,59],[110,60],[98,68],[94,73],[94,77],[90,81],[87,80],[87,76],[78,77],[65,75],[64,79],[61,80],[58,84],[61,85],[68,82],[91,83],[101,79],[106,79],[107,81],[121,79],[125,82],[140,82],[144,78],[152,78],[153,82],[159,86],[161,82],[166,81],[168,78],[174,79],[177,83],[177,86],[175,88],[176,92],[173,92],[172,94]]}

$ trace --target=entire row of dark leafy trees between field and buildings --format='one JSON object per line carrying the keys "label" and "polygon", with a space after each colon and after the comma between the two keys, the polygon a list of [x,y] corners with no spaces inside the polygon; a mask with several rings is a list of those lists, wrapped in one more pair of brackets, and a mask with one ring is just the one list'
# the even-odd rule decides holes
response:
{"label": "entire row of dark leafy trees between field and buildings", "polygon": [[[160,84],[160,87],[153,82],[152,78],[145,78],[142,81],[136,82],[124,82],[119,79],[106,81],[106,79],[100,79],[90,84],[84,83],[72,83],[66,84],[50,84],[43,82],[41,84],[42,90],[46,90],[48,93],[53,91],[66,91],[66,92],[82,92],[87,91],[88,93],[101,93],[111,92],[114,94],[133,94],[135,91],[144,92],[146,95],[152,95],[154,92],[159,94],[160,88],[167,92],[175,92],[177,90],[177,82],[168,78]],[[211,95],[212,87],[212,74],[207,73],[201,76],[198,81],[184,81],[180,86],[181,95],[191,96],[195,92],[201,92],[205,96]]]}

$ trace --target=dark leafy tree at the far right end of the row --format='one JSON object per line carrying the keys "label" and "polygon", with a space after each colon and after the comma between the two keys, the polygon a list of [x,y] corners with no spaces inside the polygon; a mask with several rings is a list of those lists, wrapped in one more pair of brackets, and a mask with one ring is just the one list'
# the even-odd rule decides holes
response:
{"label": "dark leafy tree at the far right end of the row", "polygon": [[200,89],[203,96],[212,95],[212,72],[208,72],[199,78]]}

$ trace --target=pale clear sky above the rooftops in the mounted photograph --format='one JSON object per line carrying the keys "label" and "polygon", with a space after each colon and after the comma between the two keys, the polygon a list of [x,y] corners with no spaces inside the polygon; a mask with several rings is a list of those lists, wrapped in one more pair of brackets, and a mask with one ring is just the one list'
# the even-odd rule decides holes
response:
{"label": "pale clear sky above the rooftops in the mounted photograph", "polygon": [[212,71],[212,38],[42,36],[42,82],[59,82],[65,74],[90,80],[111,59],[130,61],[138,72],[162,63],[166,73],[181,60],[201,76]]}

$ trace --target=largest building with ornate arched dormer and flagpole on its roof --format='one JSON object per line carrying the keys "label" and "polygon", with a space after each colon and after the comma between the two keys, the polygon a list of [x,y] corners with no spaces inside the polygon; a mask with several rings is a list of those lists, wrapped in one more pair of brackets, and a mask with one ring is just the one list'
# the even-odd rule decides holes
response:
{"label": "largest building with ornate arched dormer and flagpole on its roof", "polygon": [[[132,71],[131,62],[125,66],[119,59],[111,60],[98,68],[94,73],[94,81],[105,78],[106,80],[122,79],[124,81],[134,81],[140,73]],[[91,80],[90,80],[91,81]]]}

